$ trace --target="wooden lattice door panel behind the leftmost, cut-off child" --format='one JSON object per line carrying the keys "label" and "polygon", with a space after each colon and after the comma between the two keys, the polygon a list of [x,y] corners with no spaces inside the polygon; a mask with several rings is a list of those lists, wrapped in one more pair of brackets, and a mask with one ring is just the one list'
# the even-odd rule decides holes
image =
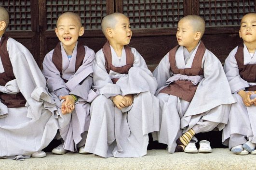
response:
{"label": "wooden lattice door panel behind the leftmost, cut-off child", "polygon": [[40,65],[37,0],[0,0],[0,6],[9,12],[10,17],[5,35],[26,46]]}

